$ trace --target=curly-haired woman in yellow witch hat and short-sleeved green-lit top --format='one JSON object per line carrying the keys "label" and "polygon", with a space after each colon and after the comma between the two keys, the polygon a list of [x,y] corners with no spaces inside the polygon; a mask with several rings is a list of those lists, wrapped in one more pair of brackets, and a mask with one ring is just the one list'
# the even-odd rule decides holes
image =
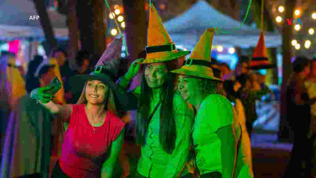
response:
{"label": "curly-haired woman in yellow witch hat and short-sleeved green-lit top", "polygon": [[[231,102],[220,94],[214,77],[210,52],[214,29],[207,29],[190,58],[172,73],[179,74],[178,90],[197,111],[192,138],[196,153],[194,164],[201,178],[238,177],[236,166],[240,127],[234,120]],[[240,154],[240,153],[238,153]]]}

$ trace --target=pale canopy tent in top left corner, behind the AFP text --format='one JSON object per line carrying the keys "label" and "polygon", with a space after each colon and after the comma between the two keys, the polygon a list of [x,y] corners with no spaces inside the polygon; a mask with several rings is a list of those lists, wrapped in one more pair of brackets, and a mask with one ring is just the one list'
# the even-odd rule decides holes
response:
{"label": "pale canopy tent in top left corner, behind the AFP text", "polygon": [[[54,10],[48,10],[55,36],[68,38],[66,17]],[[38,16],[32,0],[0,1],[0,38],[44,37],[40,19],[30,20],[30,16]]]}

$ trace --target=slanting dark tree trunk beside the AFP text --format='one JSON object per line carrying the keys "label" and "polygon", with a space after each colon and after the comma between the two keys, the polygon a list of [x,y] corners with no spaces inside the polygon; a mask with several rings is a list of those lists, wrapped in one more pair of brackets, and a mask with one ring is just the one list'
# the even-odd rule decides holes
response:
{"label": "slanting dark tree trunk beside the AFP text", "polygon": [[55,39],[54,35],[54,30],[52,27],[51,20],[49,19],[46,6],[45,6],[45,1],[43,0],[33,0],[35,9],[40,16],[40,23],[43,28],[44,34],[46,41],[48,43],[48,47],[45,48],[46,54],[50,54],[50,51],[53,48],[57,47],[57,40]]}

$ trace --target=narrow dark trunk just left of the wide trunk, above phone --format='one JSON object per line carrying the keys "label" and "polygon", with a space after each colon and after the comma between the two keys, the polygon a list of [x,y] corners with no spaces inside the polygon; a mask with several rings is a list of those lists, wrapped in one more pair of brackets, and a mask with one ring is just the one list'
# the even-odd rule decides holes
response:
{"label": "narrow dark trunk just left of the wide trunk, above phone", "polygon": [[68,60],[72,70],[77,69],[76,53],[78,50],[78,23],[76,16],[77,0],[69,1],[69,48]]}

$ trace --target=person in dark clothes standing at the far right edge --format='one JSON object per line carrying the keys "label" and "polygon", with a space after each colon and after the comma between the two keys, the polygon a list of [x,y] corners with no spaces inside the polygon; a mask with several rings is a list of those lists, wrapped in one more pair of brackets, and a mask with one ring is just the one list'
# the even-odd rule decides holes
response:
{"label": "person in dark clothes standing at the far right edge", "polygon": [[285,177],[311,177],[310,143],[308,134],[311,123],[311,98],[304,82],[310,74],[311,61],[305,56],[297,56],[292,63],[293,73],[287,88],[287,118],[294,133],[294,144]]}

